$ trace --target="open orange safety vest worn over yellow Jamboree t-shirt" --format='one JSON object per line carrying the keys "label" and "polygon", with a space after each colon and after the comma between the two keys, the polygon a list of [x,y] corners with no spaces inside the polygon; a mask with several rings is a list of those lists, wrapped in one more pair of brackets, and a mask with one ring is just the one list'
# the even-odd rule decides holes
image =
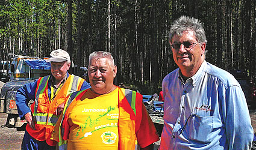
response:
{"label": "open orange safety vest worn over yellow Jamboree t-shirt", "polygon": [[[122,89],[118,86],[117,88],[119,90],[118,149],[137,149],[136,131],[139,130],[139,127],[136,126],[136,120],[139,120],[138,117],[140,117],[141,114],[136,114],[136,112],[142,107],[142,95],[135,91],[131,91],[130,89]],[[87,90],[88,89],[73,92],[70,94],[69,99],[65,104],[63,117],[58,129],[58,149],[67,149],[67,140],[63,140],[63,119],[67,112],[67,107],[69,107],[70,103],[73,101],[69,108],[72,109],[72,107],[76,105],[76,101],[80,100]],[[124,96],[125,98],[122,99]],[[66,139],[66,137],[64,139]]]}

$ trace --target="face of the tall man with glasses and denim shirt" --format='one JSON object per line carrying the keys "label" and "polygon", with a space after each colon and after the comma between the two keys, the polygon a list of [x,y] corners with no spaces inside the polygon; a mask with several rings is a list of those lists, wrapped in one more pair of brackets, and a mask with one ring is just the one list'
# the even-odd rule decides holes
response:
{"label": "face of the tall man with glasses and denim shirt", "polygon": [[[193,31],[184,31],[179,37],[174,35],[170,44],[181,43],[177,49],[172,48],[173,59],[182,70],[198,70],[204,61],[205,43],[198,43]],[[184,47],[183,43],[195,43],[192,48]],[[185,44],[186,45],[186,44]]]}

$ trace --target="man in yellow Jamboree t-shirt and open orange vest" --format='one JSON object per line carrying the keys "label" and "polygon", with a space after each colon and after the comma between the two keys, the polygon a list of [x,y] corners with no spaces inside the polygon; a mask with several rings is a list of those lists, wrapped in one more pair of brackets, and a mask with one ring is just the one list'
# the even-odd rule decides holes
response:
{"label": "man in yellow Jamboree t-shirt and open orange vest", "polygon": [[[70,94],[54,128],[59,149],[153,149],[159,137],[142,95],[113,84],[117,67],[108,52],[89,56],[92,88]],[[60,125],[59,125],[60,124]]]}

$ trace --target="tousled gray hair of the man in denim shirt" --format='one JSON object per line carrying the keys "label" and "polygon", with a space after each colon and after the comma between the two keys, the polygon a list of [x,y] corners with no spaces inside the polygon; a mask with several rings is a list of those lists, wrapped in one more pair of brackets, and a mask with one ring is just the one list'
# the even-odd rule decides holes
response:
{"label": "tousled gray hair of the man in denim shirt", "polygon": [[171,42],[174,35],[182,36],[184,31],[193,31],[198,42],[207,43],[203,24],[200,20],[188,16],[175,20],[170,28],[169,41]]}

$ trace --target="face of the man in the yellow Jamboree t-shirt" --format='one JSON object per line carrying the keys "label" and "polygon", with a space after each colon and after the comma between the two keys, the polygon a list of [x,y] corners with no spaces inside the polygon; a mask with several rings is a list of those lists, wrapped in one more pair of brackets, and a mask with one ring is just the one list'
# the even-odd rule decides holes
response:
{"label": "face of the man in the yellow Jamboree t-shirt", "polygon": [[107,94],[113,88],[116,66],[108,58],[92,58],[89,63],[89,81],[92,91]]}

